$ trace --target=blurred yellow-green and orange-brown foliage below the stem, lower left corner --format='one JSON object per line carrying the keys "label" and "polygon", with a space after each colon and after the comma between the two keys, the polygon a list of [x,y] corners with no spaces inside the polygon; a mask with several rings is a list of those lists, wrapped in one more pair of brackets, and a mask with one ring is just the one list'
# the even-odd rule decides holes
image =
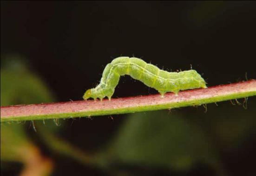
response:
{"label": "blurred yellow-green and orange-brown foliage below the stem, lower left corner", "polygon": [[22,124],[1,124],[1,164],[3,161],[23,163],[20,176],[47,176],[53,170],[52,160],[41,155]]}

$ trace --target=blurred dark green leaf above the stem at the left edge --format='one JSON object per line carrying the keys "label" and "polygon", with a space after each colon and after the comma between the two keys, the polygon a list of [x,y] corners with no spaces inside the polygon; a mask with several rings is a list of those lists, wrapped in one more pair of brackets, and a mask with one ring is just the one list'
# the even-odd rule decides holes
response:
{"label": "blurred dark green leaf above the stem at the left edge", "polygon": [[10,56],[1,69],[1,106],[53,101],[53,95],[37,75],[28,71],[19,56]]}

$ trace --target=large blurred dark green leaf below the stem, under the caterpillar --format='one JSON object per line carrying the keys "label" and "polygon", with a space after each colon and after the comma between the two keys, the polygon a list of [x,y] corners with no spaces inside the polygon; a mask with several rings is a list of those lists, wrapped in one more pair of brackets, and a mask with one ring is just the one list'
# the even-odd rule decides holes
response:
{"label": "large blurred dark green leaf below the stem, under the caterpillar", "polygon": [[217,152],[199,126],[179,113],[135,113],[120,127],[107,162],[189,170],[198,162],[218,164]]}

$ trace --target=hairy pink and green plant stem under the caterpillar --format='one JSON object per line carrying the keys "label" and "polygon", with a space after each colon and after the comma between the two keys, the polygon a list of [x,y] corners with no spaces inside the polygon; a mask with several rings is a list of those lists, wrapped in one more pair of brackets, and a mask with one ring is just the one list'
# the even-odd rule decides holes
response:
{"label": "hairy pink and green plant stem under the caterpillar", "polygon": [[205,89],[180,91],[178,96],[167,93],[116,98],[111,101],[69,101],[49,104],[16,105],[1,107],[1,122],[91,117],[122,113],[135,113],[199,106],[206,103],[227,101],[256,95],[256,80],[214,86]]}

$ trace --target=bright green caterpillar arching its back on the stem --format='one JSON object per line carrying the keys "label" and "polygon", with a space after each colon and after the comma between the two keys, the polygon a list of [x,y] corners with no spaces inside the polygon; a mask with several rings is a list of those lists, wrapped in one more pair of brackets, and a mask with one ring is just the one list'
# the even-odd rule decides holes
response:
{"label": "bright green caterpillar arching its back on the stem", "polygon": [[98,86],[88,89],[83,98],[87,100],[92,97],[94,100],[97,98],[102,100],[107,96],[110,100],[122,75],[130,75],[148,87],[155,88],[162,97],[166,92],[177,95],[179,90],[207,88],[206,82],[196,70],[168,72],[136,57],[118,57],[107,64]]}

